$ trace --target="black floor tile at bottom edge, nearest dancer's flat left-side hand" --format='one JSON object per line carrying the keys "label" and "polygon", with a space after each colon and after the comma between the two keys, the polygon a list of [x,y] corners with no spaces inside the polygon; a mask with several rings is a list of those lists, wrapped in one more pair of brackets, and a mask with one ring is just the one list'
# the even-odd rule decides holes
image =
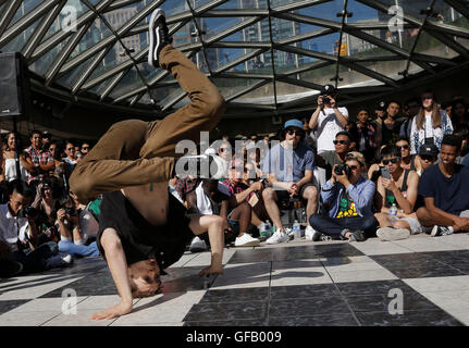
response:
{"label": "black floor tile at bottom edge, nearest dancer's flat left-side hand", "polygon": [[266,321],[267,301],[245,301],[244,303],[199,303],[194,304],[184,318],[185,322],[220,322],[233,320]]}

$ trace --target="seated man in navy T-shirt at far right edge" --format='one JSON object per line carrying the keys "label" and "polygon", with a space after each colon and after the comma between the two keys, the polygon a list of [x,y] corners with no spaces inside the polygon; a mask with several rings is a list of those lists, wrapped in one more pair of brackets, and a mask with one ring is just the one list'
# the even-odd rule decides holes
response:
{"label": "seated man in navy T-shirt at far right edge", "polygon": [[441,161],[422,173],[419,195],[425,207],[417,210],[420,223],[433,227],[432,237],[469,231],[469,167],[456,164],[461,139],[446,135],[440,150]]}

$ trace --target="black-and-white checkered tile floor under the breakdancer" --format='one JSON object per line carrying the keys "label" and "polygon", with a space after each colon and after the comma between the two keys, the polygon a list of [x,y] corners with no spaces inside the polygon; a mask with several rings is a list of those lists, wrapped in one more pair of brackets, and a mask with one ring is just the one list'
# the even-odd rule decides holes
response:
{"label": "black-and-white checkered tile floor under the breakdancer", "polygon": [[162,294],[109,321],[90,320],[119,302],[100,258],[0,279],[0,326],[469,324],[468,234],[261,244],[225,249],[223,260],[224,273],[207,284],[197,273],[210,252],[186,252],[166,270]]}

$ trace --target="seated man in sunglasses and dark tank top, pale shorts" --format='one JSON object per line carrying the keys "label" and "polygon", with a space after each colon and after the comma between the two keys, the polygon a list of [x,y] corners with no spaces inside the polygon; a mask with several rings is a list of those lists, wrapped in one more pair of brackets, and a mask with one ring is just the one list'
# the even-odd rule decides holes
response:
{"label": "seated man in sunglasses and dark tank top, pale shorts", "polygon": [[[402,150],[386,146],[382,150],[383,164],[388,169],[388,177],[380,176],[377,185],[377,210],[374,216],[380,223],[377,235],[381,240],[405,239],[410,234],[422,232],[414,207],[417,200],[419,175],[403,169]],[[391,207],[396,204],[397,214],[391,215]]]}

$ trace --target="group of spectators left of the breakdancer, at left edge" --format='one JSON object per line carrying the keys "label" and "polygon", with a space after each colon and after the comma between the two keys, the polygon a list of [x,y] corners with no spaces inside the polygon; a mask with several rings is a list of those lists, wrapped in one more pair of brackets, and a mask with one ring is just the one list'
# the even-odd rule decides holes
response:
{"label": "group of spectators left of the breakdancer, at left edge", "polygon": [[[81,204],[69,177],[90,148],[87,141],[54,140],[33,130],[2,137],[0,173],[0,277],[73,264],[99,254],[96,211]],[[96,204],[95,204],[96,206]]]}

